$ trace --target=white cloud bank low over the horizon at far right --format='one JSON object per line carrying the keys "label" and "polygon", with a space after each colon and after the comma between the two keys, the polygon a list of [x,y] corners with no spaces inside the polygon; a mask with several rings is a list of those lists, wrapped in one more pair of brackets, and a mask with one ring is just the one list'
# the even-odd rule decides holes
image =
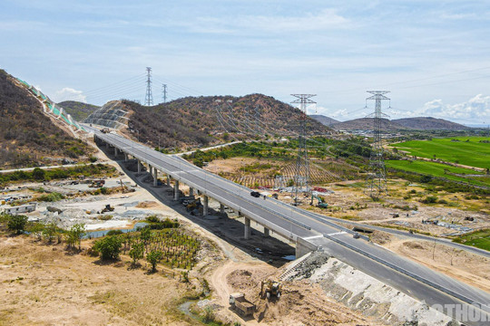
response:
{"label": "white cloud bank low over the horizon at far right", "polygon": [[446,104],[442,100],[428,101],[422,108],[408,114],[448,120],[490,121],[490,96],[478,94],[462,103]]}

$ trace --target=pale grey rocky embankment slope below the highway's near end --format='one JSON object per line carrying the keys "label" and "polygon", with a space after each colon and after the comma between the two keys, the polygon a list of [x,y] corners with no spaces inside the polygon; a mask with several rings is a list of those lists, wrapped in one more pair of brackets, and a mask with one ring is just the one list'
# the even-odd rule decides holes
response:
{"label": "pale grey rocky embankment slope below the highway's near end", "polygon": [[390,325],[447,325],[451,318],[322,252],[285,273],[286,280],[318,284],[328,297]]}

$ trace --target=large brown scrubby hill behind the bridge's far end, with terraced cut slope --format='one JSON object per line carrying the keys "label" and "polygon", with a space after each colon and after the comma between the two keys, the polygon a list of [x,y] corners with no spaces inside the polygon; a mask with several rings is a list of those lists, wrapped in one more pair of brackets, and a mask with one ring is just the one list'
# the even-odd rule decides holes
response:
{"label": "large brown scrubby hill behind the bridge's far end, with terraced cut slope", "polygon": [[[201,147],[232,139],[297,135],[301,113],[289,104],[262,94],[243,97],[186,97],[152,107],[112,101],[85,122],[126,130],[133,138],[157,147]],[[307,117],[311,134],[330,129]]]}

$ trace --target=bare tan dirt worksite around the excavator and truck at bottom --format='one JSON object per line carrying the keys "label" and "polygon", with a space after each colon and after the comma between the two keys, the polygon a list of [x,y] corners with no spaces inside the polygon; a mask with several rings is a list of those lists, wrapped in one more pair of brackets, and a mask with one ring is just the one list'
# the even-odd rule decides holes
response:
{"label": "bare tan dirt worksite around the excavator and truck at bottom", "polygon": [[[220,305],[217,315],[224,321],[242,325],[378,325],[372,319],[334,302],[317,284],[304,281],[283,283],[280,299],[260,298],[260,281],[278,277],[278,270],[268,264],[227,262],[218,267],[210,279],[216,291],[213,302]],[[228,293],[243,292],[256,304],[253,318],[241,318],[228,308]]]}

